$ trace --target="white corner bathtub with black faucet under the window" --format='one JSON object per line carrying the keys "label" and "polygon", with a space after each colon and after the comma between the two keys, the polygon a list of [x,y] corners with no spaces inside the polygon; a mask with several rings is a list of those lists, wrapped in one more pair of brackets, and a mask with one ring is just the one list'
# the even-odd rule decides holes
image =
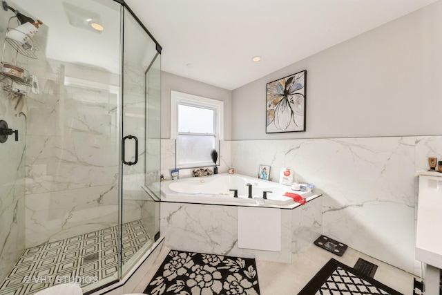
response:
{"label": "white corner bathtub with black faucet under the window", "polygon": [[[252,196],[248,198],[249,187],[252,184]],[[286,192],[298,193],[300,196],[313,200],[319,195],[310,191],[292,191],[291,187],[251,178],[240,174],[217,174],[198,178],[169,180],[161,184],[161,200],[164,202],[190,202],[198,204],[229,204],[239,206],[287,207],[294,208],[300,204],[292,198],[283,196]],[[238,198],[233,197],[233,191],[238,190]],[[267,200],[263,200],[263,192]]]}

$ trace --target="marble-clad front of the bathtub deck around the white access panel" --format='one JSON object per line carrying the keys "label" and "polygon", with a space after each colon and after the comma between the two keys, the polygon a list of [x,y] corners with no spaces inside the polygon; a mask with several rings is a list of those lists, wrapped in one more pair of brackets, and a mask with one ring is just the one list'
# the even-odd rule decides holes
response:
{"label": "marble-clad front of the bathtub deck around the white access panel", "polygon": [[322,207],[319,197],[295,209],[279,209],[281,251],[239,248],[236,206],[162,202],[160,230],[171,249],[290,263],[322,234]]}

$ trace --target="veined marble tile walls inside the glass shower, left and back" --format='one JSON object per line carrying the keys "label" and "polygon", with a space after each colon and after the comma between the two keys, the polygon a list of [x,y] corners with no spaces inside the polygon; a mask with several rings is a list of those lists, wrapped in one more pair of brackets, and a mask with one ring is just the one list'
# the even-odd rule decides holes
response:
{"label": "veined marble tile walls inside the glass shower, left and back", "polygon": [[[0,12],[1,19],[10,17],[5,14]],[[0,40],[5,32],[0,28]],[[48,41],[44,32],[35,38],[42,49]],[[0,45],[3,48],[2,41]],[[25,247],[117,225],[118,108],[124,109],[124,131],[136,135],[140,144],[139,164],[125,167],[123,173],[129,178],[124,178],[123,222],[140,219],[146,203],[140,196],[146,180],[145,68],[125,64],[125,100],[120,106],[118,74],[48,59],[45,53],[39,50],[37,59],[21,58],[11,50],[4,55],[37,77],[39,93],[23,86],[28,105],[24,120],[14,116],[10,97],[0,91],[0,120],[19,129],[21,139],[0,144],[0,161],[6,163],[0,171],[0,279],[3,267],[9,269],[15,252]],[[3,87],[2,77],[0,82]]]}

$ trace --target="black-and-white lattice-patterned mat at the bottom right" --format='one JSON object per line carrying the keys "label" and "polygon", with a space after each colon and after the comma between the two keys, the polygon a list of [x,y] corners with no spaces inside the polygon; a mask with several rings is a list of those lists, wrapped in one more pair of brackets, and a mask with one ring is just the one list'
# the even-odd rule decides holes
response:
{"label": "black-and-white lattice-patterned mat at the bottom right", "polygon": [[298,295],[403,295],[333,258]]}

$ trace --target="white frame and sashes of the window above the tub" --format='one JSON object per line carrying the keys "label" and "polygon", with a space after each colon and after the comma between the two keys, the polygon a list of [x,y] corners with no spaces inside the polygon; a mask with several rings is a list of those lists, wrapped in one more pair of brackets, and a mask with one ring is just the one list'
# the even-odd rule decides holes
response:
{"label": "white frame and sashes of the window above the tub", "polygon": [[[197,108],[207,108],[213,110],[214,133],[191,133],[179,132],[178,129],[178,106],[193,106]],[[215,149],[220,154],[220,140],[224,140],[224,102],[198,95],[171,91],[171,139],[175,140],[175,166],[179,169],[198,168],[202,166],[213,166],[213,162],[190,162],[181,164],[178,156],[178,135],[200,135],[215,136]],[[220,158],[218,157],[219,164]]]}

